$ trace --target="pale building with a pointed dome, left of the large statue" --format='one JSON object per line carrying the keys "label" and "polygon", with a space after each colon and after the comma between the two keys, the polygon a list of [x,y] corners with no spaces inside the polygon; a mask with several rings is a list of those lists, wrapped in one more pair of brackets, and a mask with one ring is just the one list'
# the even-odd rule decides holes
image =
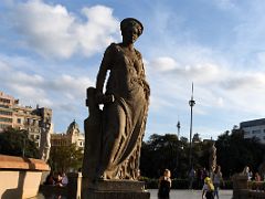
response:
{"label": "pale building with a pointed dome, left of the large statue", "polygon": [[77,148],[84,149],[85,136],[81,133],[75,121],[70,124],[65,134],[51,134],[52,147],[70,146],[72,144],[75,144]]}

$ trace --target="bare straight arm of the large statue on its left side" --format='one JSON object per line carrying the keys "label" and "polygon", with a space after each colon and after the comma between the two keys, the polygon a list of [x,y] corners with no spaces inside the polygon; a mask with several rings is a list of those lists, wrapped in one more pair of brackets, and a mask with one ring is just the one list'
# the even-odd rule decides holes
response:
{"label": "bare straight arm of the large statue on its left side", "polygon": [[103,94],[103,87],[104,87],[107,70],[109,70],[112,65],[110,63],[112,63],[112,45],[109,45],[106,49],[98,74],[97,74],[97,80],[96,80],[97,94]]}

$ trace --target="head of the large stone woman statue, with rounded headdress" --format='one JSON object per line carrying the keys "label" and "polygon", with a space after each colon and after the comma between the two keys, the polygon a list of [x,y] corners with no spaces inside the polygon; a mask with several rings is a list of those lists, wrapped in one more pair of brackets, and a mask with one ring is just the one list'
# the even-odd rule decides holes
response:
{"label": "head of the large stone woman statue, with rounded headdress", "polygon": [[120,31],[124,40],[134,43],[144,31],[140,21],[134,18],[126,18],[120,22]]}

